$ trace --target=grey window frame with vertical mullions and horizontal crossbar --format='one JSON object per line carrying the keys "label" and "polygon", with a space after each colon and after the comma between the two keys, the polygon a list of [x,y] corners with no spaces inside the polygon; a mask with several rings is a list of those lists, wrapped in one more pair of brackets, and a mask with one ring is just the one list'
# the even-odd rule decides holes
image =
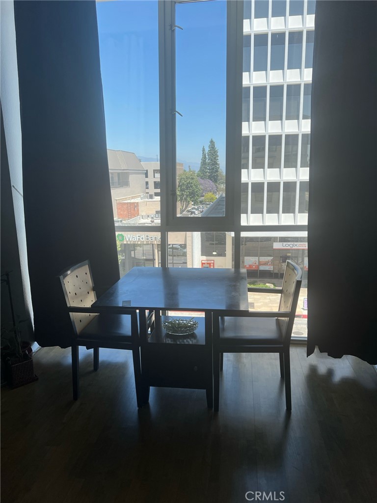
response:
{"label": "grey window frame with vertical mullions and horizontal crossbar", "polygon": [[[195,1],[198,0],[189,0],[189,2]],[[225,173],[225,216],[187,218],[176,215],[175,36],[179,30],[171,28],[175,25],[175,6],[180,3],[182,2],[164,0],[158,4],[161,223],[142,227],[117,225],[116,229],[130,233],[140,232],[141,229],[143,232],[159,232],[161,267],[168,266],[168,232],[231,232],[234,236],[234,267],[240,268],[241,234],[251,232],[258,236],[273,236],[277,233],[291,232],[292,235],[301,235],[307,232],[308,226],[298,224],[241,225],[243,1],[227,1],[226,166],[236,167],[232,172],[228,167]],[[287,33],[287,30],[283,31]],[[288,51],[288,40],[286,40],[285,50]],[[302,44],[302,54],[304,51],[304,44]],[[180,112],[183,113],[183,111]],[[283,113],[285,114],[285,111]],[[283,142],[284,138],[282,138]],[[283,161],[284,152],[282,151],[281,163]]]}

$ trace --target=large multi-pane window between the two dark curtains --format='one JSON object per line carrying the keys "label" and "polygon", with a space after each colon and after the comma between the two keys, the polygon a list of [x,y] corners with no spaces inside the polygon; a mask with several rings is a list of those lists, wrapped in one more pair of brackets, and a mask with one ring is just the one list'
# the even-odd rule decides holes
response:
{"label": "large multi-pane window between the two dark curtains", "polygon": [[97,11],[122,274],[245,267],[281,286],[284,241],[306,232],[313,2]]}

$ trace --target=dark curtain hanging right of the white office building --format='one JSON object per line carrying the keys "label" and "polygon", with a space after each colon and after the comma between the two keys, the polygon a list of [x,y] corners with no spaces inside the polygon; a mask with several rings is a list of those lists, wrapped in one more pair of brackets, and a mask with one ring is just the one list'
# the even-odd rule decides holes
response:
{"label": "dark curtain hanging right of the white office building", "polygon": [[377,364],[377,3],[317,2],[308,355]]}

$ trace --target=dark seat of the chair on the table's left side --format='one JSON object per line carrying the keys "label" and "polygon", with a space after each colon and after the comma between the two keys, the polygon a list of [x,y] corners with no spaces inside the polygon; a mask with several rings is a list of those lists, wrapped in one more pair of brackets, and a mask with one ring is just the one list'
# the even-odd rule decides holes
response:
{"label": "dark seat of the chair on the table's left side", "polygon": [[79,333],[78,339],[131,343],[131,316],[128,314],[98,314]]}

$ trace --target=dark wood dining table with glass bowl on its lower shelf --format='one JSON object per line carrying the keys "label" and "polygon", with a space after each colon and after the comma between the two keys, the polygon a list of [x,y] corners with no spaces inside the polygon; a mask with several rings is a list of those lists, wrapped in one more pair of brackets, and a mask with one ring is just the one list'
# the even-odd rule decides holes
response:
{"label": "dark wood dining table with glass bowl on its lower shelf", "polygon": [[[139,311],[145,402],[150,386],[194,388],[206,390],[212,407],[212,316],[248,312],[246,270],[134,267],[92,307],[106,313]],[[195,316],[198,328],[190,336],[171,336],[161,323],[167,311]],[[149,312],[154,313],[152,329]]]}

